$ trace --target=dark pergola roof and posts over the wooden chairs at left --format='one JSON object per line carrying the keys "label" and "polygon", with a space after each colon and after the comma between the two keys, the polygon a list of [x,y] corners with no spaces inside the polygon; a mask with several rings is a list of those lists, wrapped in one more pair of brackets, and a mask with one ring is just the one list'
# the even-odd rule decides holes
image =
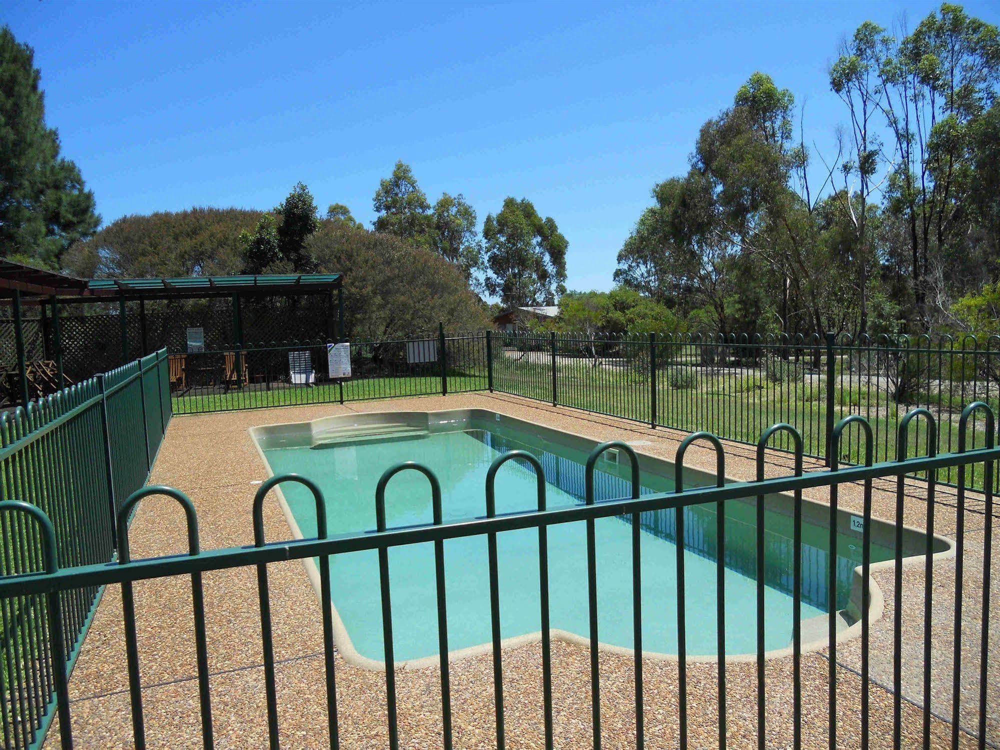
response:
{"label": "dark pergola roof and posts over the wooden chairs at left", "polygon": [[337,319],[327,321],[328,336],[337,341],[344,338],[343,274],[271,274],[240,276],[185,276],[144,279],[78,279],[54,271],[45,271],[9,260],[0,260],[0,299],[6,298],[13,308],[14,340],[20,378],[21,403],[27,404],[28,378],[25,360],[23,307],[38,306],[43,320],[47,309],[52,314],[52,339],[58,380],[65,382],[62,366],[62,342],[59,334],[61,305],[118,303],[121,323],[122,361],[129,356],[128,320],[125,303],[138,301],[143,352],[146,348],[146,301],[177,299],[208,299],[230,297],[233,301],[234,344],[243,346],[243,325],[240,300],[244,297],[291,297],[310,294],[337,295]]}

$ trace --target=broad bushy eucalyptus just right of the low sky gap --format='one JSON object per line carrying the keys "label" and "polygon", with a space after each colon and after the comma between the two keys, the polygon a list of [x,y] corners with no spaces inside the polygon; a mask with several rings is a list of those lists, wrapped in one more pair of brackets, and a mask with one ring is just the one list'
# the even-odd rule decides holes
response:
{"label": "broad bushy eucalyptus just right of the low sky gap", "polygon": [[619,252],[616,280],[698,309],[722,331],[839,328],[842,287],[857,274],[831,259],[817,213],[829,176],[811,189],[794,105],[770,76],[750,76],[733,105],[702,126],[688,174],[654,188],[655,205]]}

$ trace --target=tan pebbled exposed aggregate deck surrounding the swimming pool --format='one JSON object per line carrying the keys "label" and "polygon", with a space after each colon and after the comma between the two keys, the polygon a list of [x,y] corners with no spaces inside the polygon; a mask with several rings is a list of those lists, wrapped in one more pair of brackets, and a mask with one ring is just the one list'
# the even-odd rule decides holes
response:
{"label": "tan pebbled exposed aggregate deck surrounding the swimming pool", "polygon": [[[256,480],[267,469],[247,429],[276,422],[297,422],[350,412],[483,408],[520,419],[586,435],[597,440],[641,440],[640,452],[672,460],[685,433],[538,402],[490,394],[455,395],[373,401],[346,405],[284,407],[228,412],[172,420],[154,467],[151,483],[185,491],[198,511],[203,549],[250,544],[251,503]],[[728,476],[752,479],[754,449],[727,443]],[[693,446],[687,462],[714,470],[714,454]],[[814,464],[818,467],[818,464]],[[808,468],[812,468],[807,466]],[[769,452],[769,476],[790,473],[786,454]],[[892,520],[894,482],[876,482],[873,515]],[[806,491],[828,502],[825,489]],[[907,486],[906,523],[925,528],[926,485]],[[955,538],[956,492],[939,487],[935,531]],[[841,507],[861,512],[860,486],[844,485]],[[978,720],[979,639],[983,582],[983,532],[987,519],[979,495],[966,498],[965,595],[962,642],[962,711],[960,746],[974,747]],[[278,503],[265,504],[264,520],[271,541],[291,538]],[[998,522],[992,520],[994,529]],[[133,558],[184,551],[184,517],[166,498],[140,505],[130,531]],[[987,740],[1000,743],[1000,622],[996,589],[1000,587],[1000,555],[993,555],[994,617],[990,633]],[[323,646],[319,601],[300,561],[269,566],[277,692],[282,745],[289,748],[328,746]],[[628,575],[623,571],[623,575]],[[885,596],[885,611],[871,627],[871,747],[891,746],[893,570],[873,573]],[[921,742],[921,677],[923,670],[923,565],[904,566],[903,608],[903,745]],[[256,573],[253,567],[204,576],[206,628],[211,671],[212,718],[216,747],[267,745],[264,670]],[[932,746],[949,746],[952,618],[955,559],[934,565]],[[501,606],[505,592],[500,592]],[[697,592],[689,592],[697,596]],[[711,594],[714,596],[714,592]],[[198,682],[191,614],[190,580],[186,577],[143,581],[135,585],[138,644],[143,685],[146,735],[150,747],[200,747]],[[631,617],[630,613],[623,616]],[[560,748],[591,745],[589,653],[585,647],[552,644],[555,743]],[[860,743],[860,641],[838,647],[838,747]],[[543,747],[541,649],[537,643],[504,651],[504,699],[507,745]],[[803,745],[827,745],[827,671],[825,652],[803,657]],[[492,658],[474,656],[451,665],[454,745],[488,748],[495,744]],[[602,741],[607,748],[634,745],[632,657],[601,653]],[[766,667],[767,738],[769,747],[791,744],[791,659],[770,660]],[[336,661],[341,747],[386,747],[384,673]],[[646,746],[677,746],[676,662],[647,659],[644,664]],[[691,747],[716,747],[718,705],[716,666],[690,663],[687,669],[688,726]],[[436,668],[401,669],[397,676],[400,745],[441,746],[439,672]],[[729,747],[756,746],[756,667],[727,665]],[[128,679],[122,626],[121,589],[109,586],[102,597],[71,681],[73,733],[80,747],[133,745]],[[47,744],[58,744],[58,722]]]}

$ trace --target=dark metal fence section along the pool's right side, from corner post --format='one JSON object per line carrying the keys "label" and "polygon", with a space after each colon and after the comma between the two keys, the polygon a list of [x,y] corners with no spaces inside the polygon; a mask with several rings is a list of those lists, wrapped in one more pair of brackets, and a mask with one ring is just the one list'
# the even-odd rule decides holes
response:
{"label": "dark metal fence section along the pool's right side, from corner post", "polygon": [[[894,460],[927,450],[926,437],[911,433],[897,442],[898,425],[923,407],[938,424],[936,450],[958,440],[962,404],[1000,407],[1000,337],[948,336],[853,341],[821,338],[654,334],[493,334],[491,390],[570,406],[650,426],[708,430],[753,443],[776,422],[794,425],[805,455],[829,461],[834,423],[863,415],[873,431],[875,460]],[[982,420],[969,425],[970,445],[983,445]],[[787,437],[778,447],[790,449]],[[863,446],[853,437],[839,446],[838,460],[861,463]],[[941,479],[956,481],[957,472]],[[969,486],[982,472],[970,470]],[[995,480],[996,481],[996,480]]]}

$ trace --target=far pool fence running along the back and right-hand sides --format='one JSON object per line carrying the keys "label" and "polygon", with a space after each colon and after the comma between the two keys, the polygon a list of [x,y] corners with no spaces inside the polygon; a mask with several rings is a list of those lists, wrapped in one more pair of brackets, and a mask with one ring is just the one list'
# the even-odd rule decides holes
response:
{"label": "far pool fence running along the back and right-hand sides", "polygon": [[[601,333],[445,334],[351,342],[352,376],[329,376],[325,341],[171,354],[174,413],[493,391],[651,427],[709,430],[752,444],[776,422],[799,430],[806,456],[829,462],[835,422],[860,414],[873,431],[876,460],[896,457],[908,410],[938,424],[937,449],[958,439],[962,407],[1000,408],[1000,337],[613,336]],[[237,357],[237,351],[239,356]],[[985,439],[973,417],[970,446]],[[907,451],[926,450],[912,434]],[[789,450],[786,436],[777,447]],[[860,463],[850,438],[841,462]],[[982,486],[982,472],[966,476]],[[953,484],[957,472],[940,480]],[[1000,481],[1000,477],[994,481]],[[996,490],[998,488],[994,488]]]}

